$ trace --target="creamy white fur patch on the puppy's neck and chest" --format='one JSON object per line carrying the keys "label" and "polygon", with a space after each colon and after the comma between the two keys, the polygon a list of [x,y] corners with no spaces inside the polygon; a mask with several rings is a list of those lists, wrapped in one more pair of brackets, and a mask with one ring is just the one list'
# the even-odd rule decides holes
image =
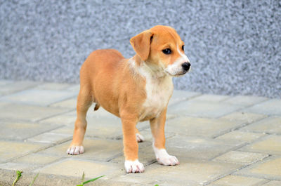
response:
{"label": "creamy white fur patch on the puppy's neck and chest", "polygon": [[135,67],[138,73],[145,78],[145,92],[146,99],[141,109],[140,121],[145,117],[157,117],[166,107],[169,102],[169,98],[173,93],[173,81],[172,77],[164,75],[159,77],[157,74],[151,71],[147,65],[142,65],[138,69],[131,60],[131,64]]}

